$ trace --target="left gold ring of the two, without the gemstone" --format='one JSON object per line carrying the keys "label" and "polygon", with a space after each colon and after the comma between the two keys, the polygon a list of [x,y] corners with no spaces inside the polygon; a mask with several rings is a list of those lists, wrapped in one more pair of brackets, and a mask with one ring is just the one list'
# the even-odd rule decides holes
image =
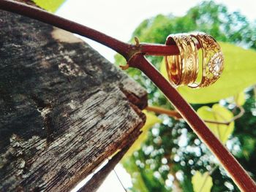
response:
{"label": "left gold ring of the two, without the gemstone", "polygon": [[171,34],[166,44],[176,44],[180,51],[180,55],[165,57],[170,82],[175,86],[195,82],[198,72],[197,47],[189,34]]}

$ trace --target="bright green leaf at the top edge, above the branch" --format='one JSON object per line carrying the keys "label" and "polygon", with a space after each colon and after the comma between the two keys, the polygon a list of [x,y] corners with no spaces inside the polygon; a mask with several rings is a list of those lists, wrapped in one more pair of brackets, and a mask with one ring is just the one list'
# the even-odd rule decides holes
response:
{"label": "bright green leaf at the top edge, above the branch", "polygon": [[48,12],[56,12],[56,10],[64,3],[66,0],[33,0],[42,9]]}

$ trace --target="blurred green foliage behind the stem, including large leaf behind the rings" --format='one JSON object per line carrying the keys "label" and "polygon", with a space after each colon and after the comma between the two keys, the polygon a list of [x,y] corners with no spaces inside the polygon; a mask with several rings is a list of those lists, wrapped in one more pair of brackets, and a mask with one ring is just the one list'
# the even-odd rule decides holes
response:
{"label": "blurred green foliage behind the stem, including large leaf behind the rings", "polygon": [[[132,37],[137,36],[140,42],[165,44],[169,34],[189,31],[204,31],[222,42],[226,72],[217,82],[219,84],[210,88],[192,91],[180,88],[179,91],[200,115],[206,113],[206,117],[211,116],[208,111],[217,111],[227,113],[232,119],[239,113],[239,107],[244,108],[244,115],[235,120],[229,135],[222,142],[255,180],[256,21],[247,20],[239,12],[228,12],[222,4],[203,1],[189,9],[183,17],[170,14],[143,20]],[[126,62],[121,55],[115,58],[118,65]],[[161,68],[162,57],[149,56],[148,59],[158,69]],[[127,73],[148,91],[148,105],[173,110],[165,96],[144,74],[136,69],[128,69]],[[242,98],[238,99],[241,95]],[[206,182],[208,185],[213,183],[211,191],[239,191],[184,120],[167,115],[157,116],[155,123],[152,123],[152,117],[148,118],[151,126],[147,126],[148,131],[143,131],[146,137],[140,141],[140,149],[135,147],[121,162],[132,177],[130,191],[197,191],[192,177],[196,174],[197,178],[203,178],[203,173],[211,174],[212,181]],[[162,123],[159,123],[159,119]],[[213,127],[220,128],[217,125]],[[205,185],[201,191],[209,189]]]}

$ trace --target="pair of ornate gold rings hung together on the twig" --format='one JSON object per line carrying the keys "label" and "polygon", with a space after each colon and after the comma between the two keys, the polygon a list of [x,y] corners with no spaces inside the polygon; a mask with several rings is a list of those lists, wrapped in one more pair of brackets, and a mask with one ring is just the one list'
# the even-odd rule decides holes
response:
{"label": "pair of ornate gold rings hung together on the twig", "polygon": [[[223,70],[223,55],[216,40],[208,34],[171,34],[166,45],[177,45],[179,55],[165,57],[170,82],[174,86],[202,88],[216,82]],[[201,65],[199,54],[202,52]]]}

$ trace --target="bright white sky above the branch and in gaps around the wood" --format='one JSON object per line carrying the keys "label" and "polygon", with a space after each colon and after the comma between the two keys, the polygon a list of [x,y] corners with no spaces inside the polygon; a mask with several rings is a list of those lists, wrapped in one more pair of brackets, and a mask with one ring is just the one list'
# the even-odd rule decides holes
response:
{"label": "bright white sky above the branch and in gaps around the wood", "polygon": [[[255,0],[216,0],[225,4],[230,12],[239,11],[246,15],[249,20],[256,19]],[[57,15],[74,20],[85,26],[102,31],[112,37],[127,42],[132,37],[134,29],[146,18],[157,14],[170,14],[176,16],[184,15],[190,7],[195,6],[200,0],[67,0]],[[182,32],[182,31],[181,31]],[[171,31],[170,31],[171,33]],[[113,60],[115,52],[108,47],[99,45],[86,39],[95,50],[99,51],[109,61]],[[130,180],[124,169],[118,166],[117,172],[124,184],[130,185]],[[99,188],[98,192],[124,191],[114,173],[110,174],[108,180]]]}

